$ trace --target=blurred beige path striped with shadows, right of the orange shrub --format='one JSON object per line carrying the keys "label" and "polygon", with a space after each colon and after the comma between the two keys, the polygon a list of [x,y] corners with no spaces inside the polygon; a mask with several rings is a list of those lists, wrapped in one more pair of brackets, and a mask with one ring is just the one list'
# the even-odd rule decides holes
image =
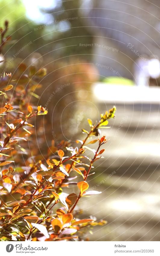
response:
{"label": "blurred beige path striped with shadows, right of the orange shrub", "polygon": [[[105,104],[107,102],[99,103],[103,112]],[[90,185],[102,194],[84,202],[87,216],[104,218],[108,225],[96,227],[90,239],[159,241],[159,105],[119,103],[110,126],[111,129],[105,129],[110,138],[105,160],[96,167],[95,179],[90,176]],[[115,173],[108,178],[112,172]]]}

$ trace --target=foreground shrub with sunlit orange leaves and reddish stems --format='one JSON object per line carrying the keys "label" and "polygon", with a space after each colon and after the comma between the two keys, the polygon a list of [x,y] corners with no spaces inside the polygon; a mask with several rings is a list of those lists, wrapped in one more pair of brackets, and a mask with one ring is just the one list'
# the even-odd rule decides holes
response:
{"label": "foreground shrub with sunlit orange leaves and reddish stems", "polygon": [[[1,36],[5,42],[4,36],[5,33]],[[47,109],[31,106],[29,102],[40,87],[38,79],[45,74],[45,69],[36,70],[21,63],[14,74],[4,73],[0,79],[1,241],[81,241],[88,229],[106,223],[91,217],[80,218],[77,203],[82,197],[101,193],[87,191],[87,178],[94,175],[93,164],[105,150],[101,147],[107,141],[100,136],[100,128],[114,118],[116,109],[102,114],[98,122],[88,119],[90,129],[83,129],[86,137],[76,141],[79,147],[61,141],[63,150],[58,150],[52,141],[46,157],[40,159],[34,154],[36,134],[30,120],[46,115]],[[97,144],[96,150],[89,144]],[[86,156],[88,150],[92,158]],[[73,192],[68,194],[68,188]]]}

